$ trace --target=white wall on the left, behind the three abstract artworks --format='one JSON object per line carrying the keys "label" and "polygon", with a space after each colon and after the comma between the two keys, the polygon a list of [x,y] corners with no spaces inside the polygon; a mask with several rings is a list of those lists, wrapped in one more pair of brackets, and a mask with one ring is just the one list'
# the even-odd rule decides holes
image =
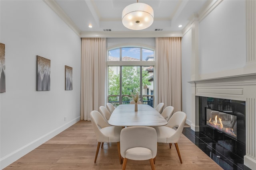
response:
{"label": "white wall on the left, behind the three abstract artworks", "polygon": [[[80,120],[81,40],[43,1],[0,3],[6,57],[2,169]],[[36,55],[51,60],[50,91],[36,91]],[[65,91],[65,65],[73,68],[70,91]]]}

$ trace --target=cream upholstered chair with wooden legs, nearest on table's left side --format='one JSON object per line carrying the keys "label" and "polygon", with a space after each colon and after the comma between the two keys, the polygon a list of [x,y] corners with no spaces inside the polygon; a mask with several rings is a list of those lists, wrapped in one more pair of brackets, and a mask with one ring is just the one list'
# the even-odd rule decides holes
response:
{"label": "cream upholstered chair with wooden legs, nearest on table's left side", "polygon": [[122,164],[120,154],[120,132],[122,130],[122,127],[110,126],[108,122],[106,122],[106,120],[103,118],[103,116],[96,110],[90,112],[90,117],[92,120],[92,127],[98,141],[94,163],[97,160],[100,143],[116,142],[118,148],[119,162],[120,164]]}

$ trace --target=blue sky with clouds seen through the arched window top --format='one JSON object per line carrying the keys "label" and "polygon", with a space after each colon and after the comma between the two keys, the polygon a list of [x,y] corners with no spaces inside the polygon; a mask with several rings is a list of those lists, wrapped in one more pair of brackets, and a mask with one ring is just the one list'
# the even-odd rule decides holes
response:
{"label": "blue sky with clouds seen through the arched window top", "polygon": [[[114,49],[108,51],[108,55],[111,57],[120,57],[120,49]],[[154,55],[154,51],[149,49],[142,49],[142,60],[145,61],[146,57]],[[122,48],[122,57],[132,57],[135,59],[140,59],[140,48]]]}

